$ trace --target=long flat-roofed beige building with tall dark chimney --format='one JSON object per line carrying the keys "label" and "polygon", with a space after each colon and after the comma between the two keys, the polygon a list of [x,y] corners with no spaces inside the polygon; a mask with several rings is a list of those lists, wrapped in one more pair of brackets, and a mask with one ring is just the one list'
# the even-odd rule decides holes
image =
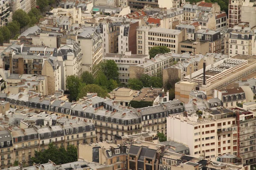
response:
{"label": "long flat-roofed beige building with tall dark chimney", "polygon": [[[223,68],[224,65],[229,66]],[[250,78],[250,74],[254,73],[254,65],[254,56],[248,59],[244,55],[236,55],[208,65],[205,72],[204,69],[201,69],[193,73],[191,81],[189,76],[186,76],[183,81],[175,84],[175,99],[187,103],[189,93],[193,89],[206,91],[207,96],[209,96],[214,93],[214,89],[221,90],[244,77]],[[231,70],[238,72],[230,72]],[[248,70],[249,72],[247,72]],[[181,88],[183,90],[180,90]]]}

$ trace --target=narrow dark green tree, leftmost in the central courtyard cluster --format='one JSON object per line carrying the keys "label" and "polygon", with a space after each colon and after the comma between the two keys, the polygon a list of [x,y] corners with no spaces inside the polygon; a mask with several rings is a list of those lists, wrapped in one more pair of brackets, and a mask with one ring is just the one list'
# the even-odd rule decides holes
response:
{"label": "narrow dark green tree, leftmost in the central courtyard cluster", "polygon": [[81,86],[81,79],[79,77],[71,75],[67,77],[66,80],[66,87],[70,92],[70,95],[68,96],[68,100],[72,102],[73,100],[76,101],[78,95],[79,95],[79,88]]}

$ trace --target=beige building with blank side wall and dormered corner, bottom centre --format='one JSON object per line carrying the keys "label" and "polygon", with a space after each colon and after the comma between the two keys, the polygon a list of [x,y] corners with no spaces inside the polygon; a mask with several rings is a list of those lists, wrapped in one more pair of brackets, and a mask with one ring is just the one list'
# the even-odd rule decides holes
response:
{"label": "beige building with blank side wall and dormered corner, bottom centre", "polygon": [[[87,150],[87,152],[84,152]],[[97,142],[92,144],[79,144],[79,159],[87,162],[105,164],[116,169],[126,169],[128,147],[114,144],[113,141]]]}

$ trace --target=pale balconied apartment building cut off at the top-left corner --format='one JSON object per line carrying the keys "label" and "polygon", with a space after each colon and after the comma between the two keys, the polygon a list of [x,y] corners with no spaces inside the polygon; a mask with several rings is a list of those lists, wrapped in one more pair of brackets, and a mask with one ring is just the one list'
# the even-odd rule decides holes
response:
{"label": "pale balconied apartment building cut off at the top-left corner", "polygon": [[6,26],[11,20],[10,17],[10,6],[8,0],[0,1],[0,26]]}

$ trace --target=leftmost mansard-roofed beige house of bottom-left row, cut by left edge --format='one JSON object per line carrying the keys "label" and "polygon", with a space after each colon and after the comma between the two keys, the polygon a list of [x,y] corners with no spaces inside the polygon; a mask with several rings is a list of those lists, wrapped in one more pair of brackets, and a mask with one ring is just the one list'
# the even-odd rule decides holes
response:
{"label": "leftmost mansard-roofed beige house of bottom-left row, cut by left edge", "polygon": [[1,147],[1,168],[9,168],[12,166],[12,156],[13,155],[13,142],[11,133],[8,130],[0,131],[0,147]]}

